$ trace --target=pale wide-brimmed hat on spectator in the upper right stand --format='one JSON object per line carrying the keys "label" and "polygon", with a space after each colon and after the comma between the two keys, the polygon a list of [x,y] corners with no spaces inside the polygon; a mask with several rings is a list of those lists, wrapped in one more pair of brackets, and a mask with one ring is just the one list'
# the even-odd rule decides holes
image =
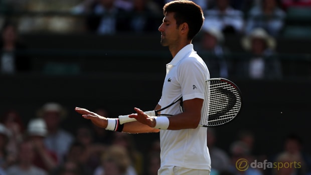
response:
{"label": "pale wide-brimmed hat on spectator in the upper right stand", "polygon": [[244,49],[251,49],[251,40],[253,38],[263,39],[267,43],[267,47],[270,49],[274,49],[276,46],[275,39],[270,36],[266,32],[266,30],[264,30],[263,28],[254,28],[247,36],[242,38],[242,46],[244,47]]}

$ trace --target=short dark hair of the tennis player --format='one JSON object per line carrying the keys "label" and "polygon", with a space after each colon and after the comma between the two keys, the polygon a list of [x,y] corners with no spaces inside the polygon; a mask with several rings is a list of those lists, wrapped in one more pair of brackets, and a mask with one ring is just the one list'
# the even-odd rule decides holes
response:
{"label": "short dark hair of the tennis player", "polygon": [[194,36],[201,30],[204,15],[202,8],[191,0],[173,0],[163,7],[164,15],[167,12],[174,12],[176,24],[186,22],[189,26],[188,39],[192,40]]}

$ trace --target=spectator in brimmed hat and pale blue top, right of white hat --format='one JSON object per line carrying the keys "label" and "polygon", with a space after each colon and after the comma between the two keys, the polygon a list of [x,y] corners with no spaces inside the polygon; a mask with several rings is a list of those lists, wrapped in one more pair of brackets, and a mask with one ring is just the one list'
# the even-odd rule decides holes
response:
{"label": "spectator in brimmed hat and pale blue top, right of white hat", "polygon": [[45,145],[57,153],[59,163],[64,161],[65,154],[74,140],[74,136],[60,126],[66,113],[65,108],[56,102],[48,102],[38,110],[38,116],[42,117],[47,124]]}

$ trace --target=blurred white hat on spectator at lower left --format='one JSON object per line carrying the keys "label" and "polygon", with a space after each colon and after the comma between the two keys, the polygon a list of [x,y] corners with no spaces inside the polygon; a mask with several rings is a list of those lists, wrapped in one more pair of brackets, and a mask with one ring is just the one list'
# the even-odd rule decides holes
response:
{"label": "blurred white hat on spectator at lower left", "polygon": [[27,133],[29,136],[46,136],[48,134],[48,129],[44,119],[31,119],[27,126]]}

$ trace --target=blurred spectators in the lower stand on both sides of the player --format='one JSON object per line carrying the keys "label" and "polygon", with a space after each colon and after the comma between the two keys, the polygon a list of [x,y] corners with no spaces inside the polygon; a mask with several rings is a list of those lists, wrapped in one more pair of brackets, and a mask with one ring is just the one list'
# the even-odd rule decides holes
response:
{"label": "blurred spectators in the lower stand on both sides of the player", "polygon": [[[108,116],[103,108],[94,110]],[[134,141],[134,135],[113,132],[93,124],[79,124],[74,131],[62,126],[68,111],[60,103],[47,102],[35,111],[36,117],[25,121],[23,113],[9,110],[0,122],[0,174],[50,175],[156,175],[160,167],[160,142]],[[74,122],[74,121],[71,121]],[[67,124],[70,124],[67,122]],[[73,126],[72,126],[73,127]],[[271,155],[255,154],[256,137],[249,130],[240,130],[229,150],[217,145],[217,132],[207,130],[213,175],[305,175],[311,174],[311,157],[305,152],[303,140],[289,134],[283,148]],[[137,144],[146,149],[140,150]],[[237,168],[240,159],[251,162],[299,162],[299,167],[263,169]],[[297,165],[297,164],[296,164]]]}

